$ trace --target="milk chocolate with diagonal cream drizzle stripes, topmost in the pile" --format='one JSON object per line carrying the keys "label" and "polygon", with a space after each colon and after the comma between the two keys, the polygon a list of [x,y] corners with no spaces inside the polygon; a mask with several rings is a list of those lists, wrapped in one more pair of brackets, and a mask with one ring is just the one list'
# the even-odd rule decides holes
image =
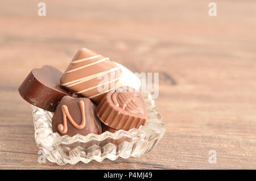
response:
{"label": "milk chocolate with diagonal cream drizzle stripes, topmost in the pile", "polygon": [[65,70],[60,83],[74,94],[98,104],[106,92],[115,89],[120,74],[121,69],[109,58],[82,48]]}

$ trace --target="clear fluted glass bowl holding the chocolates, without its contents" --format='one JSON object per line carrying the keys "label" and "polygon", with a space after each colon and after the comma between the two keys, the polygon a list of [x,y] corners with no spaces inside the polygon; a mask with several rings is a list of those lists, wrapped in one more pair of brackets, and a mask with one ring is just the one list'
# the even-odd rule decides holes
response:
{"label": "clear fluted glass bowl holding the chocolates, without its contents", "polygon": [[102,134],[90,133],[86,136],[60,136],[52,132],[52,112],[32,107],[35,126],[35,141],[39,149],[50,162],[59,165],[72,165],[81,161],[89,163],[108,158],[112,161],[118,157],[139,157],[151,151],[163,137],[166,125],[155,106],[150,94],[142,94],[147,106],[148,120],[144,126],[129,131],[108,131]]}

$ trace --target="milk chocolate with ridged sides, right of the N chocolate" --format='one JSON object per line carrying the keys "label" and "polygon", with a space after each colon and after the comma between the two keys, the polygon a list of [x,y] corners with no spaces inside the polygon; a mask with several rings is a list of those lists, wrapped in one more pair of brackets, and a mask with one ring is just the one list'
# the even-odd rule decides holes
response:
{"label": "milk chocolate with ridged sides, right of the N chocolate", "polygon": [[121,87],[115,92],[107,93],[98,104],[96,112],[105,125],[125,131],[139,128],[147,120],[142,95],[130,87]]}

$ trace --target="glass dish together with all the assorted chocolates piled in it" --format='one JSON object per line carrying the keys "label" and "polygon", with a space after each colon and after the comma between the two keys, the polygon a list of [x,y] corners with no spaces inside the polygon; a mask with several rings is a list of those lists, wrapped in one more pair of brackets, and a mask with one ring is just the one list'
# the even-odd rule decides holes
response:
{"label": "glass dish together with all the assorted chocolates piled in it", "polygon": [[64,73],[33,69],[18,90],[31,104],[36,144],[49,161],[65,165],[139,157],[154,148],[165,124],[140,87],[125,66],[81,48]]}

